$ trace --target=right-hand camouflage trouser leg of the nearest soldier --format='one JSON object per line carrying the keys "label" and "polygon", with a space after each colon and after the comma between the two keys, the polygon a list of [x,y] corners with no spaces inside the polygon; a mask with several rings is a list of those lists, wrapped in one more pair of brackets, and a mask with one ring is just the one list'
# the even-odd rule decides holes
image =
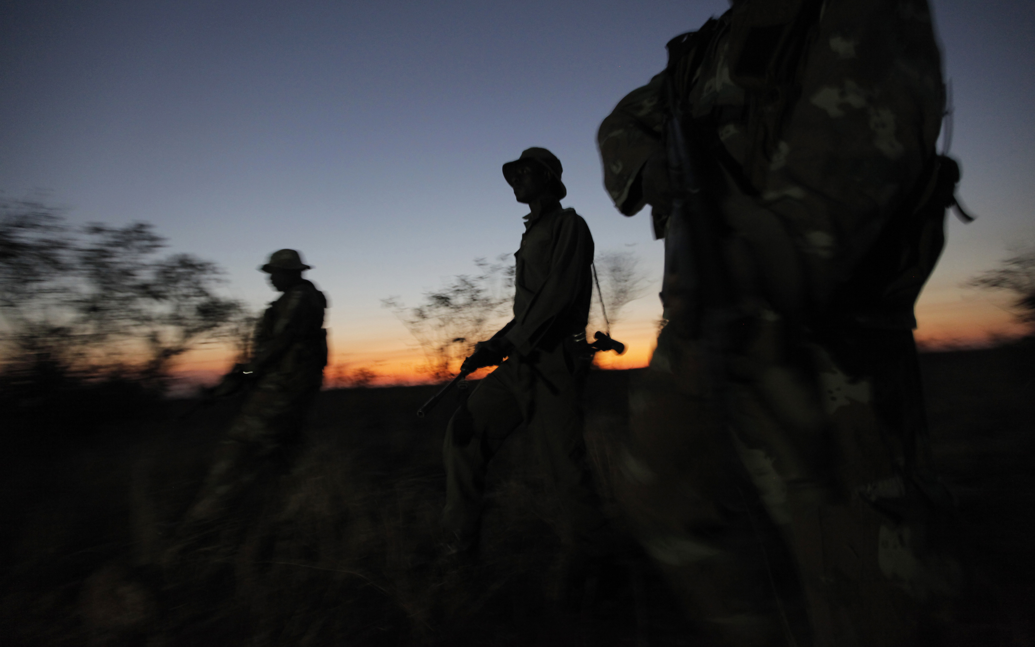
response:
{"label": "right-hand camouflage trouser leg of the nearest soldier", "polygon": [[[918,645],[924,606],[952,592],[955,569],[925,536],[935,511],[917,470],[923,423],[912,339],[864,329],[832,339],[835,352],[812,345],[799,365],[811,364],[823,396],[821,435],[800,433],[796,418],[812,414],[794,409],[807,405],[781,410],[788,398],[764,379],[731,387],[731,421],[795,555],[816,646]],[[824,470],[829,495],[816,497]]]}

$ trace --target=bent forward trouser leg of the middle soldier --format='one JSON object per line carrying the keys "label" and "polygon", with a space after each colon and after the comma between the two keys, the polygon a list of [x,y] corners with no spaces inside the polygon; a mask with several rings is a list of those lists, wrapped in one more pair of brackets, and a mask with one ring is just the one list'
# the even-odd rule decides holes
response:
{"label": "bent forward trouser leg of the middle soldier", "polygon": [[442,445],[446,468],[443,529],[462,544],[475,540],[485,490],[485,468],[503,441],[521,425],[521,405],[513,396],[515,363],[504,362],[482,379],[449,420]]}

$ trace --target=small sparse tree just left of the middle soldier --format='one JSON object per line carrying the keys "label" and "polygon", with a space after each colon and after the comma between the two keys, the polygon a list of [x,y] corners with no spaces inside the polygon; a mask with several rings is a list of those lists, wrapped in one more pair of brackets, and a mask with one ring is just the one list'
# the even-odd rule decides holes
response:
{"label": "small sparse tree just left of the middle soldier", "polygon": [[454,374],[474,344],[489,338],[502,325],[513,302],[512,256],[497,263],[475,258],[479,273],[462,274],[440,289],[424,292],[424,302],[408,308],[391,297],[381,304],[390,309],[424,353],[424,370],[436,379]]}

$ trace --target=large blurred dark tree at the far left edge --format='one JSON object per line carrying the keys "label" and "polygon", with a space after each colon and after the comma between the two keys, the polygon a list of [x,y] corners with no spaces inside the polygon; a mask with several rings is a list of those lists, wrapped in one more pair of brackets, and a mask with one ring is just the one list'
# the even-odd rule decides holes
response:
{"label": "large blurred dark tree at the far left edge", "polygon": [[245,313],[214,291],[221,271],[155,257],[147,223],[72,228],[39,202],[0,204],[0,353],[37,386],[119,372],[161,387],[170,361],[231,333]]}

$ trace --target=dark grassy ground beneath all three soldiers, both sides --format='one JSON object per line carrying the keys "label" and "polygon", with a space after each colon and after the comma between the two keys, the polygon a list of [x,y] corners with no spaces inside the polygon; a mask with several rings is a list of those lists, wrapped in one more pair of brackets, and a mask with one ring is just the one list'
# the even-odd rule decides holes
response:
{"label": "dark grassy ground beneath all three soldiers, both sides", "polygon": [[[935,457],[979,591],[960,645],[1035,645],[1033,358],[1030,346],[922,356]],[[590,383],[604,494],[629,373]],[[646,561],[562,610],[558,511],[525,434],[497,459],[478,566],[440,558],[451,406],[414,415],[435,389],[325,392],[293,472],[165,566],[170,522],[233,403],[185,422],[182,401],[119,423],[79,409],[16,421],[0,471],[0,644],[694,644]]]}

